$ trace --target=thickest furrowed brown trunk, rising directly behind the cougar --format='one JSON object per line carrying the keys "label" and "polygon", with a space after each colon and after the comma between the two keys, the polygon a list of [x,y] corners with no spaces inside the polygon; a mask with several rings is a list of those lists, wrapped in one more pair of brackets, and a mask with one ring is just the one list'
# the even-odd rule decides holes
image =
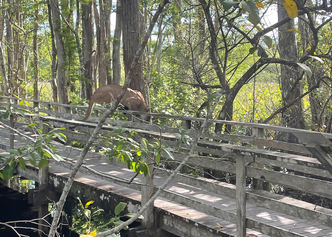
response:
{"label": "thickest furrowed brown trunk, rising directly behind the cougar", "polygon": [[[122,20],[126,22],[126,25],[122,27],[123,33],[123,54],[124,54],[124,72],[127,75],[130,64],[134,58],[136,51],[141,44],[140,27],[139,27],[139,1],[138,0],[122,0]],[[134,90],[142,92],[144,98],[146,95],[144,92],[144,80],[143,80],[143,68],[142,57],[134,70],[132,80],[129,87]]]}

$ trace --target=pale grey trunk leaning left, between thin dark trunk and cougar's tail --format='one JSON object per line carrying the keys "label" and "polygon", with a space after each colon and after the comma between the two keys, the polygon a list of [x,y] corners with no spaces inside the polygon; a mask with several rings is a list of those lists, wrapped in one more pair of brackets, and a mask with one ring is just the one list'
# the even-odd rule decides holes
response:
{"label": "pale grey trunk leaning left, between thin dark trunk and cougar's tail", "polygon": [[[53,16],[54,36],[57,52],[57,86],[59,91],[59,103],[68,104],[69,93],[67,86],[67,70],[66,70],[66,50],[64,46],[64,39],[60,35],[61,20],[59,14],[59,5],[57,1],[51,1],[51,11]],[[60,106],[61,112],[66,112],[64,106]],[[68,110],[69,111],[69,110]]]}

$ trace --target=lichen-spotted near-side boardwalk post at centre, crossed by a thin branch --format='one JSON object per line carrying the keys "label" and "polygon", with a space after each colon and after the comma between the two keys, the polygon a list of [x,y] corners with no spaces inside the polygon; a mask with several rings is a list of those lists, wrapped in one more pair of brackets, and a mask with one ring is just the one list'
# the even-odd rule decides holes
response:
{"label": "lichen-spotted near-side boardwalk post at centre, crossed by a thin branch", "polygon": [[[152,138],[148,138],[151,141]],[[145,158],[144,162],[150,163],[152,160],[150,158]],[[154,194],[154,183],[153,183],[153,164],[149,165],[150,172],[142,179],[143,184],[149,186],[142,186],[141,195],[142,201],[141,206],[143,207]],[[153,213],[154,202],[143,212],[144,219],[142,219],[143,229],[153,229],[155,228],[154,213]]]}

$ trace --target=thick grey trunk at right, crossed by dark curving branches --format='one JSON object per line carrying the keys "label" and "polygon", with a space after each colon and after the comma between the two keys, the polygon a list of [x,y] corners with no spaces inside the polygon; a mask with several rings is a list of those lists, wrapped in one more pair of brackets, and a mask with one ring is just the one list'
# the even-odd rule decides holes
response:
{"label": "thick grey trunk at right, crossed by dark curving branches", "polygon": [[[288,17],[282,1],[278,1],[278,21]],[[297,43],[295,32],[286,31],[294,29],[294,19],[278,28],[279,32],[279,55],[280,58],[287,60],[297,60]],[[282,90],[282,103],[283,105],[294,100],[301,95],[299,83],[293,85],[296,79],[300,76],[298,69],[290,68],[287,65],[281,65],[281,90]],[[293,88],[293,89],[292,89]],[[297,101],[290,106],[285,112],[282,113],[282,124],[291,128],[305,128],[303,110],[301,101]],[[285,138],[287,142],[297,142],[295,137],[289,135]]]}

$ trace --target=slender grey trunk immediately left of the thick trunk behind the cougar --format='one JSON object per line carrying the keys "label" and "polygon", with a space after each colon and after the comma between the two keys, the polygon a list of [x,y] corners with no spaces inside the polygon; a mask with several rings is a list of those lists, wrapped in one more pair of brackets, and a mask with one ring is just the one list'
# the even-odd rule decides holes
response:
{"label": "slender grey trunk immediately left of the thick trunk behind the cougar", "polygon": [[121,2],[117,0],[117,18],[115,22],[114,39],[113,39],[113,84],[121,83],[121,62],[120,62],[120,44],[122,33],[122,12]]}

